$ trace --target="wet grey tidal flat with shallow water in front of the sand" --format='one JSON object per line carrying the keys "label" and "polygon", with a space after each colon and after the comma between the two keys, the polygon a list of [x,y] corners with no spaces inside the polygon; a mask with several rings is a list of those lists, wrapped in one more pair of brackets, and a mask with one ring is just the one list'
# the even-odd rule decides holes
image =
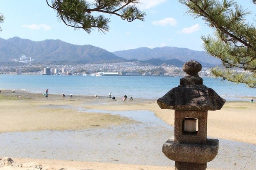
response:
{"label": "wet grey tidal flat with shallow water in front of the sand", "polygon": [[[136,123],[84,130],[1,133],[0,155],[174,166],[174,161],[162,154],[162,144],[174,135],[174,129],[153,112],[77,109],[98,114],[113,113],[134,119]],[[255,150],[253,144],[220,139],[218,155],[208,163],[208,168],[256,168]]]}

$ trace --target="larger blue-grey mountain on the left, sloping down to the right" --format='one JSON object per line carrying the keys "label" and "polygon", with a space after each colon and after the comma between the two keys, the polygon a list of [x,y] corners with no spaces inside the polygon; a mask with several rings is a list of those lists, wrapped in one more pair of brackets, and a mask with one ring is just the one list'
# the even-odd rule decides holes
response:
{"label": "larger blue-grey mountain on the left, sloping down to the right", "polygon": [[60,40],[31,41],[13,37],[0,39],[0,61],[11,62],[24,54],[35,64],[86,64],[125,62],[104,49],[92,45],[73,45]]}

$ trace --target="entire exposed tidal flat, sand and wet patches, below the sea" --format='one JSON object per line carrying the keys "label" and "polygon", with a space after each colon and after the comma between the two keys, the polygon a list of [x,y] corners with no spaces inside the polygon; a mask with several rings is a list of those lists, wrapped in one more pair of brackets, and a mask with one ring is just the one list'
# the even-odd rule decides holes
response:
{"label": "entire exposed tidal flat, sand and wet patches, below the sea", "polygon": [[[162,153],[174,135],[174,111],[154,100],[1,95],[0,157],[174,166]],[[227,102],[209,111],[208,138],[220,143],[208,168],[256,168],[254,110],[252,103]]]}

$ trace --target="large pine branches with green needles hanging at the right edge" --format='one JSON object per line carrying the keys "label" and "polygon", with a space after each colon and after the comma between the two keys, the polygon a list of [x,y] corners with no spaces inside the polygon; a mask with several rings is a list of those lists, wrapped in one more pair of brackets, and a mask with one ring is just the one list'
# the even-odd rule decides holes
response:
{"label": "large pine branches with green needles hanging at the right edge", "polygon": [[[179,0],[188,13],[202,17],[214,29],[214,36],[202,36],[204,49],[221,59],[225,69],[216,67],[212,73],[231,82],[256,88],[256,25],[248,23],[251,14],[234,0]],[[252,0],[256,4],[256,0]],[[253,4],[252,4],[253,5]],[[247,73],[238,70],[247,70]]]}

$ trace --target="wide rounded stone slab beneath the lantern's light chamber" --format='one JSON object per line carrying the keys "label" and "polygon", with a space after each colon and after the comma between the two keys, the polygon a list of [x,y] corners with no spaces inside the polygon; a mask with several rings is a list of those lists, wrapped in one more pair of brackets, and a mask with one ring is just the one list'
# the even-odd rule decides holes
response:
{"label": "wide rounded stone slab beneath the lantern's light chamber", "polygon": [[218,154],[219,140],[207,139],[204,144],[176,143],[173,138],[163,145],[163,153],[178,162],[210,162]]}

